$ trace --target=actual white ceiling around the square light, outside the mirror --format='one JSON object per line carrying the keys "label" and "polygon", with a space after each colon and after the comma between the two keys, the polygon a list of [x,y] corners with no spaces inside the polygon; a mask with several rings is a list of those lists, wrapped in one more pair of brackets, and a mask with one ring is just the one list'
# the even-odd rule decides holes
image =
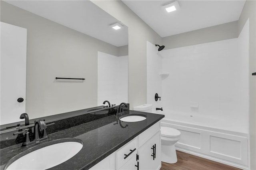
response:
{"label": "actual white ceiling around the square light, outside the mirror", "polygon": [[161,37],[216,26],[239,19],[245,0],[178,0],[180,9],[162,7],[173,0],[122,0]]}

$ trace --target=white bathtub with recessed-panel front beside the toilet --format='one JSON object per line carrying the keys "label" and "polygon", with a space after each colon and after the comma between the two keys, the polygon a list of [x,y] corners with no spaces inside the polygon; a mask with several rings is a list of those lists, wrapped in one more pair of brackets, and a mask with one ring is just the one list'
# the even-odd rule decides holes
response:
{"label": "white bathtub with recessed-panel front beside the toilet", "polygon": [[167,111],[159,113],[165,115],[161,126],[181,132],[176,150],[248,169],[248,129],[237,120]]}

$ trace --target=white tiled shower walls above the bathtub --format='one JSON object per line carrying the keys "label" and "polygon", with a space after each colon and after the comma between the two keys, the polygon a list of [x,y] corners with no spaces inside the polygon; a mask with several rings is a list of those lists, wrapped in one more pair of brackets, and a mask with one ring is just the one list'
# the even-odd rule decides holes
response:
{"label": "white tiled shower walls above the bathtub", "polygon": [[248,132],[248,24],[239,38],[160,52],[150,43],[147,47],[148,103],[161,89],[157,73],[168,72],[160,93],[165,111],[238,119]]}

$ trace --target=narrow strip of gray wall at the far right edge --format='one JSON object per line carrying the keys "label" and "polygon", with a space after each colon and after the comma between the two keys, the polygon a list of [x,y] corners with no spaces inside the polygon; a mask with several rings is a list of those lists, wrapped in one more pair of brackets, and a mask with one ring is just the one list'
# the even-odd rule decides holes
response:
{"label": "narrow strip of gray wall at the far right edge", "polygon": [[249,18],[250,168],[256,170],[256,1],[246,0],[238,20],[241,32]]}

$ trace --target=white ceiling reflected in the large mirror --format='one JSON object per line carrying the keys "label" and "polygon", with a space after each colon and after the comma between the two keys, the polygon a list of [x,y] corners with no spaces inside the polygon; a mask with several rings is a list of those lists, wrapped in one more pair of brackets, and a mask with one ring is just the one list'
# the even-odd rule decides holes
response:
{"label": "white ceiling reflected in the large mirror", "polygon": [[128,45],[128,28],[114,30],[116,18],[89,0],[7,0],[9,4],[117,47]]}

